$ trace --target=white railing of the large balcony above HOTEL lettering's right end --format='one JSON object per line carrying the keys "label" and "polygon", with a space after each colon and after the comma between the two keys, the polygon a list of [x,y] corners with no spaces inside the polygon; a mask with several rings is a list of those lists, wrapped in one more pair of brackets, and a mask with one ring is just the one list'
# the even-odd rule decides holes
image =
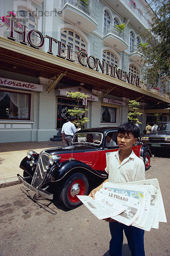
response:
{"label": "white railing of the large balcony above HOTEL lettering's right end", "polygon": [[62,0],[61,7],[63,8],[66,3],[78,8],[79,10],[84,12],[86,15],[91,17],[94,21],[96,21],[97,14],[94,11],[94,9],[92,9],[91,6],[88,5],[88,3],[85,3],[82,0]]}

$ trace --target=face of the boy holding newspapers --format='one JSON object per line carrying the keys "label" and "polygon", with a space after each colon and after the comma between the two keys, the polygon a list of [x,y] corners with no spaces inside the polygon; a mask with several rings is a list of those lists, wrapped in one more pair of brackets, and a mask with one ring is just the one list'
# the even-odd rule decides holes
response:
{"label": "face of the boy holding newspapers", "polygon": [[129,135],[127,135],[127,132],[125,132],[125,134],[119,133],[117,136],[117,145],[122,150],[130,149],[137,140],[138,139],[135,138],[131,132]]}

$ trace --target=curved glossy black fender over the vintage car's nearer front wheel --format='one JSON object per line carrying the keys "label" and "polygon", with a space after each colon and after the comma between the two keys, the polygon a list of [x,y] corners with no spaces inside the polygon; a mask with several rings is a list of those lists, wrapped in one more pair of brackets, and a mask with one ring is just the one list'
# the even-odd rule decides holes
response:
{"label": "curved glossy black fender over the vintage car's nearer front wheel", "polygon": [[51,168],[51,173],[49,176],[49,180],[47,181],[59,181],[62,180],[68,173],[76,171],[79,172],[79,169],[82,169],[82,172],[88,177],[89,172],[96,176],[107,178],[107,174],[105,171],[96,171],[87,164],[78,161],[78,160],[66,160],[62,163],[57,164]]}

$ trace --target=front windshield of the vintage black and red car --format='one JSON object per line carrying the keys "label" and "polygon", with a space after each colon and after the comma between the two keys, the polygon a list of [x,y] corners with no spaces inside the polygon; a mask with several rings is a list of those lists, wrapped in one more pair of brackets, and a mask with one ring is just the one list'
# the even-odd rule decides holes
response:
{"label": "front windshield of the vintage black and red car", "polygon": [[100,133],[79,133],[75,134],[73,143],[89,143],[100,145],[102,143],[103,134]]}

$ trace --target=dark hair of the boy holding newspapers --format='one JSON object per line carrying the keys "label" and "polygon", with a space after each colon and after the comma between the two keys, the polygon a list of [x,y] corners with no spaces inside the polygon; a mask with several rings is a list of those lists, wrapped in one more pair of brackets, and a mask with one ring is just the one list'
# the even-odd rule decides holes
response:
{"label": "dark hair of the boy holding newspapers", "polygon": [[140,135],[139,127],[133,122],[125,122],[118,127],[118,133],[125,134],[125,132],[127,132],[127,135],[131,132],[134,138],[138,138]]}

